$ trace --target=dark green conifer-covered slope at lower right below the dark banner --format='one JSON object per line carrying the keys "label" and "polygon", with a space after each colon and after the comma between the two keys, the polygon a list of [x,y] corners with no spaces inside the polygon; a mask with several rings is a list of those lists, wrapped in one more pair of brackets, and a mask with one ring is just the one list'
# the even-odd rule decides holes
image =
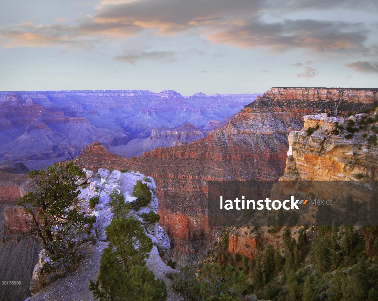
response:
{"label": "dark green conifer-covered slope at lower right below the dark banner", "polygon": [[[347,216],[354,210],[351,198],[346,206]],[[370,206],[378,214],[378,193]],[[377,299],[378,227],[302,227],[298,242],[293,229],[298,231],[283,229],[283,249],[267,244],[253,258],[236,253],[234,261],[228,252],[231,228],[224,228],[205,263],[176,274],[173,286],[194,300],[248,300],[253,295],[282,301]]]}

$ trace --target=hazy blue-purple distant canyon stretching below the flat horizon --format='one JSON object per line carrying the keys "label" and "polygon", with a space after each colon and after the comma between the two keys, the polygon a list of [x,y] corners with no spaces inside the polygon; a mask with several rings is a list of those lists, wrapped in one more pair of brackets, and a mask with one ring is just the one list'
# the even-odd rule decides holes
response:
{"label": "hazy blue-purple distant canyon stretching below the flat horizon", "polygon": [[[174,135],[168,140],[154,138],[153,128],[174,130],[190,122],[206,134],[206,126],[216,126],[258,95],[183,96],[173,90],[0,92],[0,165],[23,163],[29,170],[41,169],[76,157],[94,141],[111,148],[152,135],[152,143],[118,149],[131,157],[138,153],[136,147],[143,152],[175,142]],[[177,142],[193,137],[184,140],[178,137]]]}

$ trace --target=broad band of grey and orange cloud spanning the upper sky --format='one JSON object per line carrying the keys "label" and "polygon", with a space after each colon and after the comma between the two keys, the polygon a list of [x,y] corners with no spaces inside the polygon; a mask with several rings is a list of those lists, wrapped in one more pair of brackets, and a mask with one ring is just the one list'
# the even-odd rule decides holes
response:
{"label": "broad band of grey and orange cloud spanning the upper sky", "polygon": [[[354,2],[354,4],[353,4]],[[7,47],[48,47],[124,41],[149,32],[155,35],[188,34],[201,36],[214,44],[239,48],[366,50],[363,43],[369,31],[361,23],[319,20],[263,21],[269,12],[329,9],[354,5],[378,7],[378,2],[361,0],[102,0],[94,17],[83,17],[78,24],[14,26],[0,28],[0,45]],[[363,6],[364,5],[364,6]],[[372,53],[366,52],[366,53]]]}

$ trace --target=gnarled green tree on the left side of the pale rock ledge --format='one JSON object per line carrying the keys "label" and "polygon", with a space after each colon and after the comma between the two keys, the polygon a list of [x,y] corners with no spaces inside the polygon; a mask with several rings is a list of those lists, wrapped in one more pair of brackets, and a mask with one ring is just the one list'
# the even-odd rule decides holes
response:
{"label": "gnarled green tree on the left side of the pale rock ledge", "polygon": [[93,216],[86,216],[75,206],[80,193],[77,181],[84,177],[71,162],[54,164],[39,172],[33,170],[29,178],[36,188],[17,202],[32,217],[32,230],[53,261],[50,268],[69,269],[83,256],[84,247],[79,237],[88,234],[95,221]]}

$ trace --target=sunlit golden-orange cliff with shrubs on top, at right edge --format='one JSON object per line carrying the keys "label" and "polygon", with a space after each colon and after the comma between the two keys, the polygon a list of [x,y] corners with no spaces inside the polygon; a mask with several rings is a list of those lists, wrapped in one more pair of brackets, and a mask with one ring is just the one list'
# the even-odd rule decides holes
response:
{"label": "sunlit golden-orange cliff with shrubs on top, at right edge", "polygon": [[376,116],[305,116],[304,128],[289,134],[282,180],[377,180]]}

